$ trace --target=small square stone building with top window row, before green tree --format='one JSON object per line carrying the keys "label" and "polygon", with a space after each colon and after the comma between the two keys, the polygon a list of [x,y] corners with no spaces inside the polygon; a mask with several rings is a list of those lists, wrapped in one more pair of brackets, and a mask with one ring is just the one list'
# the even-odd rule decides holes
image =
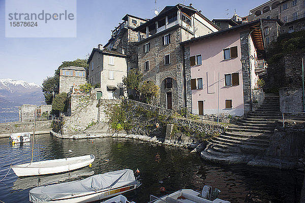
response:
{"label": "small square stone building with top window row, before green tree", "polygon": [[87,82],[86,69],[83,67],[69,66],[59,68],[59,94],[68,93],[73,88]]}

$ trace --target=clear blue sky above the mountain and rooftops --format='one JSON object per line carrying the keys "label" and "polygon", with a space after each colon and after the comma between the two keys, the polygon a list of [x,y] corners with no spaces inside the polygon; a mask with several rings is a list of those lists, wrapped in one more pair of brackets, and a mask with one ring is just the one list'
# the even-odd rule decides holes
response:
{"label": "clear blue sky above the mountain and rooftops", "polygon": [[[9,0],[7,0],[9,1]],[[213,18],[228,18],[236,13],[249,14],[249,10],[266,0],[158,0],[161,11],[166,5],[177,3],[193,4],[202,14]],[[63,61],[85,59],[93,47],[106,44],[110,30],[121,22],[127,13],[143,18],[154,17],[155,0],[78,0],[76,38],[6,38],[5,0],[0,0],[0,79],[12,78],[42,84],[43,79],[52,76]],[[229,9],[229,11],[226,11]]]}

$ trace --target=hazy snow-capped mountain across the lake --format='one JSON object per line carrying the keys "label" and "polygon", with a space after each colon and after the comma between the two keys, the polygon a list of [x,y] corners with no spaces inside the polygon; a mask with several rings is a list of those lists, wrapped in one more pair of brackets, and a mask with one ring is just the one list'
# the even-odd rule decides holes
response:
{"label": "hazy snow-capped mountain across the lake", "polygon": [[23,80],[0,79],[0,112],[17,111],[22,104],[44,104],[41,86]]}

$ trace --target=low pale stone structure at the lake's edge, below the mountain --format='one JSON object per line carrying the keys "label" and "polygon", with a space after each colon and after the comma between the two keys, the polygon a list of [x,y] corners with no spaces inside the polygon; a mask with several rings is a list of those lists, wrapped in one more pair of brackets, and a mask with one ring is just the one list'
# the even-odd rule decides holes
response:
{"label": "low pale stone structure at the lake's edge, below the mountain", "polygon": [[50,112],[52,111],[52,105],[31,105],[23,104],[18,107],[19,121],[28,122],[34,121],[35,111],[37,113],[37,119],[48,119]]}

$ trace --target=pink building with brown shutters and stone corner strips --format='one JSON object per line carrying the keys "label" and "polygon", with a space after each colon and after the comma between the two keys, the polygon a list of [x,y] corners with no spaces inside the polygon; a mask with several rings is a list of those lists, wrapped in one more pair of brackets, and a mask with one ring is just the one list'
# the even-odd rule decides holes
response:
{"label": "pink building with brown shutters and stone corner strips", "polygon": [[263,60],[261,21],[256,20],[181,43],[185,53],[186,103],[195,114],[243,115],[252,110],[258,64]]}

